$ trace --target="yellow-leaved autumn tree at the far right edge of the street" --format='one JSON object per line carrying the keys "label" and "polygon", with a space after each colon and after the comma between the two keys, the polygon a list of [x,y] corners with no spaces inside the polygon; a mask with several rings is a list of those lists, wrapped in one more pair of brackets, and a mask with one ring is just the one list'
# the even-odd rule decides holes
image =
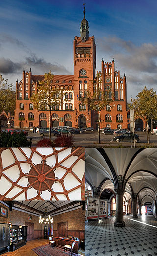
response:
{"label": "yellow-leaved autumn tree at the far right edge of the street", "polygon": [[147,137],[149,143],[148,120],[151,120],[151,130],[153,130],[153,119],[157,120],[157,93],[145,86],[135,99],[131,98],[131,108],[134,108],[135,116],[143,117],[147,123]]}

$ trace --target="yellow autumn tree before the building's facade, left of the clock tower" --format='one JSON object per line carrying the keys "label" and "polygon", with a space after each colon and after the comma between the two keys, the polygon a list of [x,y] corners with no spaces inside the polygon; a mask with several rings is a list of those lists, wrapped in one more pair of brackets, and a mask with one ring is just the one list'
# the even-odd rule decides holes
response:
{"label": "yellow autumn tree before the building's facade, left of the clock tower", "polygon": [[37,93],[31,97],[34,107],[38,110],[49,110],[49,139],[51,140],[51,110],[61,105],[63,101],[63,92],[60,88],[52,86],[53,74],[51,71],[45,73],[44,79],[39,81]]}

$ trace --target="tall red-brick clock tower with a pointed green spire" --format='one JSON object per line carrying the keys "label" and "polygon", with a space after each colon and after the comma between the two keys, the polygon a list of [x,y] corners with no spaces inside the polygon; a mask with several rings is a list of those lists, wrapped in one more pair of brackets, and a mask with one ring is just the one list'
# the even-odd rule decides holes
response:
{"label": "tall red-brick clock tower with a pointed green spire", "polygon": [[[84,4],[83,4],[84,5]],[[96,46],[94,36],[89,37],[89,24],[84,18],[80,25],[80,37],[74,37],[74,111],[75,126],[91,126],[91,113],[83,104],[87,90],[93,93],[93,80],[96,68]]]}

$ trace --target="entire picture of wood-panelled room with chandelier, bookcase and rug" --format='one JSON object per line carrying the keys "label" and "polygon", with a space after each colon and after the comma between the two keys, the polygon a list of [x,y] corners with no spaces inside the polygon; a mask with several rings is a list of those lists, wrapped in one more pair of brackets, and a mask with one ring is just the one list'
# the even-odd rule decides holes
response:
{"label": "entire picture of wood-panelled room with chandelier, bookcase and rug", "polygon": [[84,219],[83,201],[0,201],[0,254],[85,255]]}

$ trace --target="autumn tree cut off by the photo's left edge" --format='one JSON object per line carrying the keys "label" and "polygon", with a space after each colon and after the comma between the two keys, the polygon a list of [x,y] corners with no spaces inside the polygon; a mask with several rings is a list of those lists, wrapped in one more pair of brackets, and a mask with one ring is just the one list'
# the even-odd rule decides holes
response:
{"label": "autumn tree cut off by the photo's left edge", "polygon": [[5,110],[6,113],[14,113],[15,91],[13,84],[8,84],[8,79],[4,79],[0,74],[0,113],[2,110]]}

